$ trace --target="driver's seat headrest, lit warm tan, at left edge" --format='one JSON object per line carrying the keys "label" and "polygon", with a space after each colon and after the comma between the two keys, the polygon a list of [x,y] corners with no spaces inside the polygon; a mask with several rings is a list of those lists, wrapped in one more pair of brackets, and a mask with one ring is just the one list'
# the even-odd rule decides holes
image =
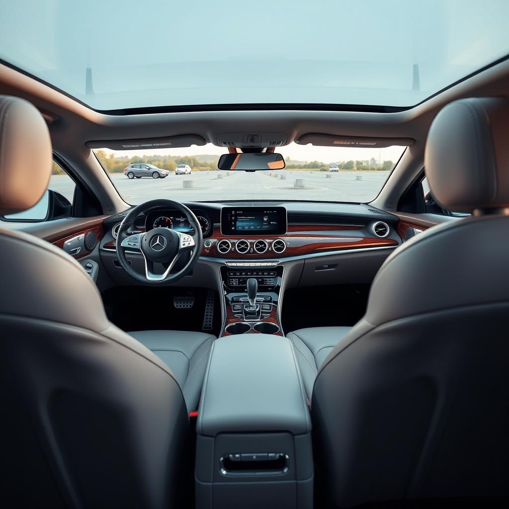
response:
{"label": "driver's seat headrest, lit warm tan, at left edge", "polygon": [[22,212],[41,199],[52,161],[39,111],[24,99],[0,95],[0,214]]}

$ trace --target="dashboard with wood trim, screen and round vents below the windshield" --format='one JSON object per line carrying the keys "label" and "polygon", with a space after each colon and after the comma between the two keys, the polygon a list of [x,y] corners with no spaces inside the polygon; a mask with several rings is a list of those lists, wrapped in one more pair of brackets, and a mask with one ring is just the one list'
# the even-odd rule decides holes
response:
{"label": "dashboard with wood trim, screen and round vents below the windshield", "polygon": [[[200,222],[204,243],[201,259],[228,265],[277,265],[286,260],[335,253],[390,249],[402,242],[399,218],[364,204],[316,202],[186,203]],[[115,250],[115,229],[125,215],[111,216],[113,238],[103,241]],[[138,216],[134,230],[169,228],[193,233],[178,210],[154,209]],[[406,235],[406,234],[405,234]]]}

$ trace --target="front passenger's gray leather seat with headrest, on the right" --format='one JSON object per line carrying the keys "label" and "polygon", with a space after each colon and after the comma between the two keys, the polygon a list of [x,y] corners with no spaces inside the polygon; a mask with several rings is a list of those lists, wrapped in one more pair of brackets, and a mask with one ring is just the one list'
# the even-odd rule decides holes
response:
{"label": "front passenger's gray leather seat with headrest, on the right", "polygon": [[396,249],[321,364],[312,419],[326,504],[509,495],[508,139],[506,98],[453,102],[432,123],[433,195],[472,216]]}

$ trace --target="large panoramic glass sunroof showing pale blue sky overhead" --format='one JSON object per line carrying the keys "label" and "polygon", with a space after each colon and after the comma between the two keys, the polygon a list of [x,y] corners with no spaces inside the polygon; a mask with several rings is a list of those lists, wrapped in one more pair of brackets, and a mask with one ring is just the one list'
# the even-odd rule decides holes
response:
{"label": "large panoramic glass sunroof showing pale blue sky overhead", "polygon": [[509,54],[507,0],[10,3],[0,59],[98,110],[413,106]]}

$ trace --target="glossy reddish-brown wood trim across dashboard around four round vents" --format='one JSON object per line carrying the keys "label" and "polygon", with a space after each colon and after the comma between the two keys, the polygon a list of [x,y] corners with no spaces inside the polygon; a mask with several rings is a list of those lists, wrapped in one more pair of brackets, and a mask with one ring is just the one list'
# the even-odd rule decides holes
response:
{"label": "glossy reddish-brown wood trim across dashboard around four round vents", "polygon": [[[209,248],[205,246],[202,249],[202,256],[219,257],[219,258],[243,258],[249,259],[273,259],[273,258],[286,258],[293,256],[302,256],[304,254],[322,253],[326,251],[338,251],[342,249],[359,249],[365,247],[390,247],[397,246],[397,240],[390,238],[379,237],[361,237],[355,235],[344,235],[343,230],[359,231],[361,227],[357,226],[342,226],[342,225],[292,225],[292,233],[286,235],[261,235],[260,237],[250,237],[241,235],[222,235],[218,227],[214,228],[214,234],[206,240],[212,240],[213,244]],[[316,235],[305,233],[312,232],[315,229],[323,228],[324,232],[337,232],[335,235],[324,235],[317,233]],[[238,253],[236,250],[231,250],[228,253],[222,254],[216,249],[216,244],[221,239],[228,239],[233,243],[236,240],[243,239],[249,241],[258,240],[263,238],[269,241],[269,249],[265,253],[259,254],[257,252],[248,252],[245,254]],[[277,254],[270,249],[270,241],[274,239],[284,239],[287,243],[286,250]]]}

